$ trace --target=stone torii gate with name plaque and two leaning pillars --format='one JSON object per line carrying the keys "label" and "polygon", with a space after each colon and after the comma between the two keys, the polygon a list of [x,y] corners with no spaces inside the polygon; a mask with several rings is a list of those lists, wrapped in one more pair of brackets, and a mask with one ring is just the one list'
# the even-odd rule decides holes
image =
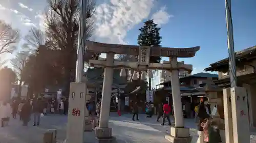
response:
{"label": "stone torii gate with name plaque and two leaning pillars", "polygon": [[[106,61],[90,60],[92,67],[103,67],[104,80],[101,99],[101,113],[99,127],[96,128],[98,139],[112,138],[112,129],[109,128],[110,100],[112,92],[113,69],[126,68],[145,71],[147,69],[168,70],[171,72],[172,94],[175,113],[175,127],[170,127],[170,135],[165,138],[171,142],[190,142],[189,129],[184,128],[182,113],[182,103],[180,94],[180,82],[178,70],[183,69],[188,72],[193,70],[192,65],[180,64],[177,58],[190,58],[195,56],[199,46],[191,48],[166,48],[136,45],[105,44],[87,41],[87,51],[95,53],[106,53]],[[115,54],[129,54],[138,56],[138,62],[114,61]],[[169,58],[169,63],[150,63],[150,56],[163,56]],[[106,140],[104,141],[106,142]]]}

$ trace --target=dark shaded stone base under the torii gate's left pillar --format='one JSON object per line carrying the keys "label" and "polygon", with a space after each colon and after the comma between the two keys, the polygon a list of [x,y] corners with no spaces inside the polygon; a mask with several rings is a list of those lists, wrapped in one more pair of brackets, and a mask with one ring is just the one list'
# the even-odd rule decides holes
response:
{"label": "dark shaded stone base under the torii gate's left pillar", "polygon": [[95,128],[95,137],[99,143],[114,143],[115,137],[112,136],[112,128]]}

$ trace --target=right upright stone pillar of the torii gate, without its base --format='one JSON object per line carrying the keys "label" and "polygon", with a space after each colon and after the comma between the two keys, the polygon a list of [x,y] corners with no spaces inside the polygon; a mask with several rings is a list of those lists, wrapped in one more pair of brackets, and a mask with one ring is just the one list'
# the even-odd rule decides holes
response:
{"label": "right upright stone pillar of the torii gate, without its base", "polygon": [[[178,67],[177,57],[170,57],[169,61],[173,68]],[[174,104],[175,127],[184,127],[181,94],[180,94],[179,72],[178,70],[172,70],[170,75],[171,75],[170,78],[171,78],[171,84],[172,84],[172,94],[173,94],[173,104]]]}

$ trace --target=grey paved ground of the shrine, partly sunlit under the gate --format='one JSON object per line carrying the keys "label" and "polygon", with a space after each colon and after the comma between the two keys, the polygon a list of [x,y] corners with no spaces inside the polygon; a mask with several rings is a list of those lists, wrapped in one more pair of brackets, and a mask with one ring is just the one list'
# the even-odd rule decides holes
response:
{"label": "grey paved ground of the shrine, partly sunlit under the gate", "polygon": [[[169,134],[169,126],[160,126],[153,118],[146,118],[145,115],[139,115],[140,121],[132,121],[132,115],[122,115],[118,117],[116,113],[111,113],[110,127],[113,129],[113,136],[118,142],[127,143],[167,143],[164,135]],[[0,143],[34,143],[42,142],[43,134],[48,129],[57,129],[57,141],[63,142],[66,138],[67,116],[50,115],[41,118],[41,124],[38,127],[32,126],[32,121],[28,127],[23,127],[18,119],[11,119],[8,127],[0,128]],[[191,128],[190,135],[193,136],[193,142],[197,140],[197,130],[194,120],[186,119],[185,126]],[[92,141],[94,132],[85,132],[85,142]],[[251,142],[256,143],[256,133],[250,135]]]}

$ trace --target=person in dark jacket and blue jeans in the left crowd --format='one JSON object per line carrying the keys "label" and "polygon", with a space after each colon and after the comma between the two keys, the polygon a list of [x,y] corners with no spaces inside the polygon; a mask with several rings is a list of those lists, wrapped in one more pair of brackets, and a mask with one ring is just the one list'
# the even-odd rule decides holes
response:
{"label": "person in dark jacket and blue jeans in the left crowd", "polygon": [[44,103],[42,102],[41,98],[37,98],[32,103],[33,108],[33,115],[34,115],[34,124],[33,126],[39,126],[40,124],[40,116],[44,109]]}

